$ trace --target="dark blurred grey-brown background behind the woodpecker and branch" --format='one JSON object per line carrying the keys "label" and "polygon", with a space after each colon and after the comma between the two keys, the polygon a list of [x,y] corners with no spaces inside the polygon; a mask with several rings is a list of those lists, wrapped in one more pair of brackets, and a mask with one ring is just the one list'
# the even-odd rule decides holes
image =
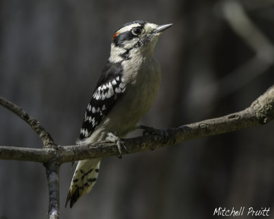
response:
{"label": "dark blurred grey-brown background behind the woodpecker and branch", "polygon": [[[273,0],[2,0],[0,95],[58,144],[74,144],[112,34],[135,20],[174,24],[155,47],[162,84],[142,125],[177,127],[243,110],[274,83]],[[73,209],[64,203],[74,168],[63,164],[61,218],[212,218],[216,207],[271,207],[274,216],[273,130],[272,122],[104,158],[97,184]],[[0,145],[42,147],[3,107]],[[0,218],[47,218],[47,207],[42,164],[0,161]]]}

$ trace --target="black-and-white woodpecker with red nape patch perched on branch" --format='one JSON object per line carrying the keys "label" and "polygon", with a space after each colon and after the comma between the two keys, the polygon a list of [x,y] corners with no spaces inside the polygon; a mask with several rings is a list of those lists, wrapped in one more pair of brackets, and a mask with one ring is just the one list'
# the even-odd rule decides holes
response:
{"label": "black-and-white woodpecker with red nape patch perched on branch", "polygon": [[[103,68],[80,129],[77,144],[115,142],[121,157],[121,138],[138,128],[158,94],[161,70],[153,49],[162,32],[173,24],[147,21],[125,23],[112,36],[110,57]],[[142,127],[143,128],[143,127]],[[77,162],[66,205],[70,207],[92,189],[101,158]]]}

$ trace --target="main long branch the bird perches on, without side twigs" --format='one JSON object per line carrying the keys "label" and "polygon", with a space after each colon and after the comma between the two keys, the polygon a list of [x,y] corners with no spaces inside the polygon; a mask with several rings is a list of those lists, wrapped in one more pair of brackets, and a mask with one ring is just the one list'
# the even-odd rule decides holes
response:
{"label": "main long branch the bird perches on, without side twigs", "polygon": [[[199,123],[182,125],[164,131],[167,142],[157,135],[146,135],[137,138],[124,139],[128,153],[136,153],[158,149],[204,136],[214,136],[264,125],[274,119],[274,86],[266,90],[247,109],[227,116],[203,120]],[[123,152],[126,154],[126,152]],[[16,159],[32,162],[47,163],[58,160],[60,164],[80,159],[92,159],[117,155],[115,144],[110,142],[95,142],[89,145],[57,146],[55,149],[25,149],[18,147],[0,146],[0,159]]]}

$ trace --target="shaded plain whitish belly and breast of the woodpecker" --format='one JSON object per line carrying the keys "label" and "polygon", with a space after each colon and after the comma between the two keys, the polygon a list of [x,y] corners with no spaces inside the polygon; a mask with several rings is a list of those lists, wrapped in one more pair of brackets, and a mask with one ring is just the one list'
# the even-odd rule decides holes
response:
{"label": "shaded plain whitish belly and breast of the woodpecker", "polygon": [[135,74],[132,81],[127,81],[125,93],[92,133],[92,141],[104,140],[108,132],[123,138],[136,129],[138,121],[155,101],[161,80],[157,60],[153,59],[143,67],[145,70],[141,70],[141,74]]}

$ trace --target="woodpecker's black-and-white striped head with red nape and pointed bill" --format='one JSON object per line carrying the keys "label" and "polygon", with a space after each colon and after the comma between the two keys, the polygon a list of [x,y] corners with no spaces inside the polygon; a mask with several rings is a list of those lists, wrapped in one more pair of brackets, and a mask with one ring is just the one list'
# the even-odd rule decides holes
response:
{"label": "woodpecker's black-and-white striped head with red nape and pointed bill", "polygon": [[152,55],[158,36],[171,25],[155,25],[146,21],[126,23],[112,36],[110,62],[130,60],[132,55]]}

